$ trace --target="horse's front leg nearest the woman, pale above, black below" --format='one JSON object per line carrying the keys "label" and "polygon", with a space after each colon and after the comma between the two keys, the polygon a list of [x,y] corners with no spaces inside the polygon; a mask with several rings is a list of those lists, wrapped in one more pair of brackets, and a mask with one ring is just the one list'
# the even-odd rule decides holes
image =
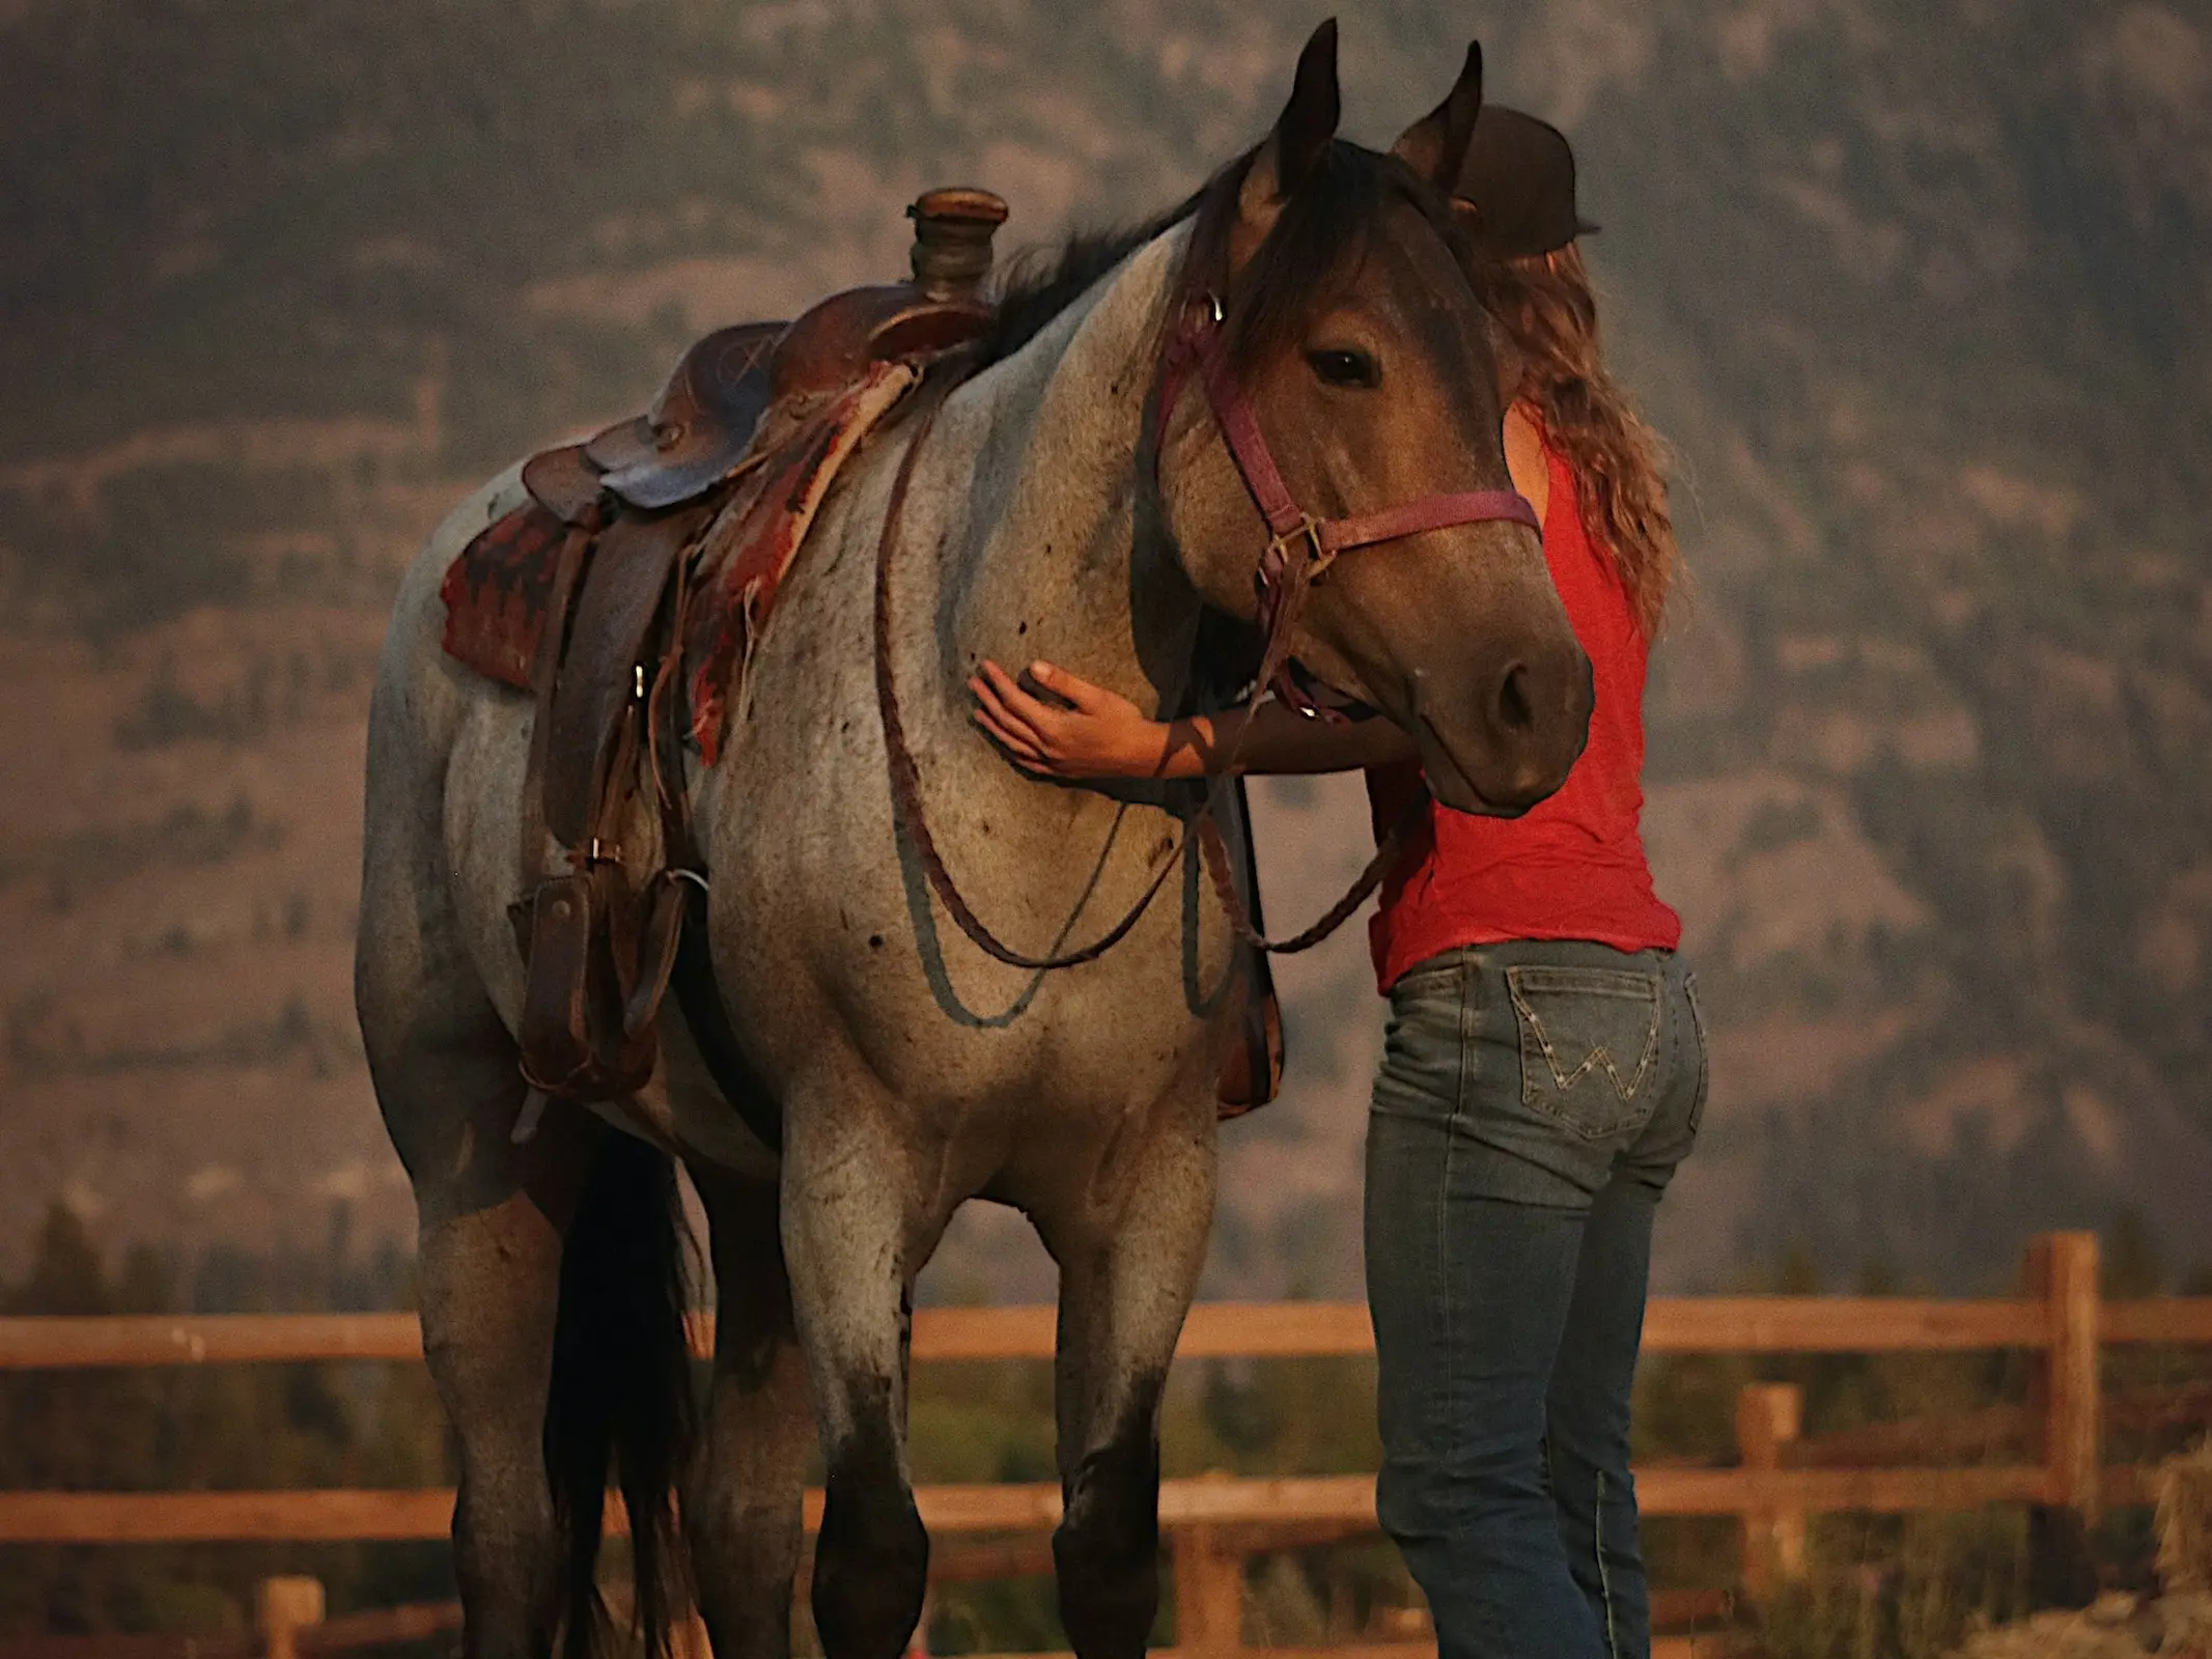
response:
{"label": "horse's front leg nearest the woman, pale above, black below", "polygon": [[1106,1148],[1075,1214],[1040,1217],[1060,1259],[1053,1562],[1082,1659],[1137,1659],[1159,1610],[1159,1396],[1212,1217],[1210,1095],[1155,1108]]}

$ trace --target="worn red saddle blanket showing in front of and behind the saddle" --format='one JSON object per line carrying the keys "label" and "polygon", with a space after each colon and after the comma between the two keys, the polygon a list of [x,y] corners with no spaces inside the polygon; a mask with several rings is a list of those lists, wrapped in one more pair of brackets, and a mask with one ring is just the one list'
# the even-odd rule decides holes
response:
{"label": "worn red saddle blanket showing in front of and behind the saddle", "polygon": [[[679,619],[684,692],[690,737],[708,765],[721,757],[743,664],[838,469],[916,378],[909,363],[874,363],[827,403],[770,416],[776,429],[726,484],[728,498],[690,549],[695,575]],[[531,688],[566,535],[568,524],[531,500],[460,551],[440,588],[449,657],[489,679]]]}

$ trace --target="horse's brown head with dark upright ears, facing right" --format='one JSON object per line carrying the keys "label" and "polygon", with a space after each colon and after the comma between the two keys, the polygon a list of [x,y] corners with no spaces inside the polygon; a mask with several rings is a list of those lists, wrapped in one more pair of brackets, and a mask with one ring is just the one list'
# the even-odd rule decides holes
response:
{"label": "horse's brown head with dark upright ears, facing right", "polygon": [[[1391,155],[1340,142],[1336,27],[1323,24],[1274,133],[1197,210],[1179,307],[1219,299],[1217,376],[1314,520],[1511,491],[1500,336],[1440,188],[1480,104],[1482,60],[1469,51],[1458,86]],[[1254,617],[1254,560],[1272,531],[1203,378],[1170,378],[1179,396],[1161,409],[1168,524],[1199,593]],[[1522,812],[1582,752],[1590,664],[1535,529],[1427,518],[1444,524],[1327,564],[1290,648],[1413,734],[1438,801]],[[1290,560],[1310,553],[1285,544]]]}

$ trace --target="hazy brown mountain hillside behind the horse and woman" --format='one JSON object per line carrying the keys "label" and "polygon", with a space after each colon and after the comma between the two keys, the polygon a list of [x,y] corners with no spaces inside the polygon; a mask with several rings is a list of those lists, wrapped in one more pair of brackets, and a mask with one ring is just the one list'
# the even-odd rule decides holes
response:
{"label": "hazy brown mountain hillside behind the horse and woman", "polygon": [[[1363,137],[1469,33],[1493,93],[1571,128],[1617,358],[1679,449],[1697,595],[1648,832],[1717,1031],[1663,1276],[1803,1241],[1969,1283],[2130,1203],[2201,1254],[2212,18],[1340,11]],[[15,1212],[405,1230],[345,960],[411,542],[701,327],[894,272],[918,188],[1002,190],[1011,241],[1181,195],[1321,13],[0,7]],[[1276,790],[1276,914],[1327,902],[1363,830],[1356,787]],[[1285,987],[1296,1084],[1230,1130],[1217,1283],[1349,1290],[1358,938]]]}

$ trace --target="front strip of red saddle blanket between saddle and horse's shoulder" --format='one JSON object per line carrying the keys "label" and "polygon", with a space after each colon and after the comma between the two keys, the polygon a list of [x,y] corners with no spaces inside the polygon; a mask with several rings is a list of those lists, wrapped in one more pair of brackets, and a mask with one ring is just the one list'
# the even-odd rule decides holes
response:
{"label": "front strip of red saddle blanket between saddle and horse's shoulder", "polygon": [[918,378],[911,363],[872,363],[856,385],[810,416],[739,484],[739,493],[708,531],[699,582],[684,619],[690,734],[708,765],[721,757],[730,690],[830,484]]}

